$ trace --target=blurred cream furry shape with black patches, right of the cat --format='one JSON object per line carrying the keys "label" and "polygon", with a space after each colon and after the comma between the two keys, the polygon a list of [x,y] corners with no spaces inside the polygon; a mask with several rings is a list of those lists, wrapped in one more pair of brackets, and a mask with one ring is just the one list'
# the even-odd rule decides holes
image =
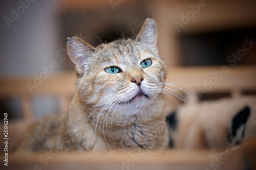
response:
{"label": "blurred cream furry shape with black patches, right of the cat", "polygon": [[169,147],[221,150],[255,136],[255,96],[207,101],[191,106],[195,112],[189,106],[182,106],[166,116]]}

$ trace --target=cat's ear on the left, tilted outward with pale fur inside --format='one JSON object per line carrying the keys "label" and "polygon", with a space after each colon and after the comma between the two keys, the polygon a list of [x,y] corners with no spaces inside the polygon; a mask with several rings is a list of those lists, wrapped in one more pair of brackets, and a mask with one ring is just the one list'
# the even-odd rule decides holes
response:
{"label": "cat's ear on the left, tilted outward with pale fur inside", "polygon": [[67,49],[76,73],[82,75],[95,48],[78,37],[68,37]]}

